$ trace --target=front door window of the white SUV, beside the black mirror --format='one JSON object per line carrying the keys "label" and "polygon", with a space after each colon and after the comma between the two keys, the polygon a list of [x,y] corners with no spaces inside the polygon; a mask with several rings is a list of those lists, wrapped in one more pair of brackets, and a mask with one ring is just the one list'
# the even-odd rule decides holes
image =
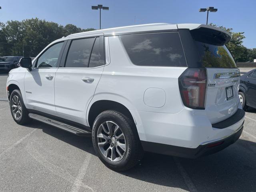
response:
{"label": "front door window of the white SUV, beside the black mirror", "polygon": [[48,48],[38,59],[35,67],[56,67],[58,62],[58,57],[60,55],[60,50],[64,42],[54,44]]}

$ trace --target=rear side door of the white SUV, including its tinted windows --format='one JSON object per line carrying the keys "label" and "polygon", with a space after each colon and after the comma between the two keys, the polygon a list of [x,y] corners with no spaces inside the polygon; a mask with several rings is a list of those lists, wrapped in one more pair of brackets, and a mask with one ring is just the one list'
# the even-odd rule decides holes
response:
{"label": "rear side door of the white SUV, including its tinted windows", "polygon": [[103,34],[70,39],[55,78],[58,116],[87,125],[86,109],[104,68]]}

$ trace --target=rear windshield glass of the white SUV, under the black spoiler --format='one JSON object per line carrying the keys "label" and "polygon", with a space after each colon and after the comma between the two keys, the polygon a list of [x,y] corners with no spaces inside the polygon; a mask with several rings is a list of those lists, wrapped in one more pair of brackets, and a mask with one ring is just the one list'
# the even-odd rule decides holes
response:
{"label": "rear windshield glass of the white SUV, under the black spoiler", "polygon": [[218,46],[195,42],[203,67],[236,68],[236,63],[225,45]]}

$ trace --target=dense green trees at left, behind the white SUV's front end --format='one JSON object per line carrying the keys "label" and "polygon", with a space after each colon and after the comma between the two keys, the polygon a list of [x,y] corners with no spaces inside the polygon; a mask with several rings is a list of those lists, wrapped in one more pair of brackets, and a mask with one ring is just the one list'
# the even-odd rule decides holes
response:
{"label": "dense green trees at left, behind the white SUV's front end", "polygon": [[23,55],[35,57],[50,42],[73,33],[95,30],[66,26],[38,18],[0,23],[0,56]]}

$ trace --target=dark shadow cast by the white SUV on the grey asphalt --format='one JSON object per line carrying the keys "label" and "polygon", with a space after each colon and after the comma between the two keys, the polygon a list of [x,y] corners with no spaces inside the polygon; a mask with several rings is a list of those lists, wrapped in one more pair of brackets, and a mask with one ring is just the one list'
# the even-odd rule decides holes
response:
{"label": "dark shadow cast by the white SUV on the grey asphalt", "polygon": [[[95,155],[91,138],[79,137],[35,121],[28,126],[40,126],[44,133]],[[198,191],[234,192],[256,189],[255,142],[239,139],[235,144],[216,154],[198,159],[178,160]],[[141,164],[119,173],[144,182],[188,190],[172,156],[145,153]]]}

